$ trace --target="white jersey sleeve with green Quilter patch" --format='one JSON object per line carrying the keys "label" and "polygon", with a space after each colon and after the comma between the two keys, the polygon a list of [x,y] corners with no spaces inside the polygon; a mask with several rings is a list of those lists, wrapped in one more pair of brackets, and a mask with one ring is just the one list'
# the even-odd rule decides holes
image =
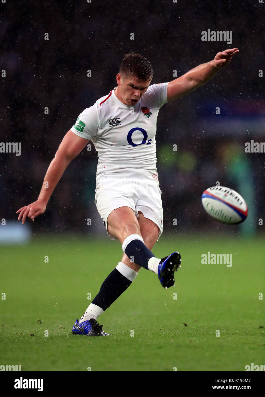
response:
{"label": "white jersey sleeve with green Quilter patch", "polygon": [[96,104],[94,104],[79,114],[75,125],[70,129],[81,138],[91,139],[97,135],[98,127],[98,113],[96,110]]}

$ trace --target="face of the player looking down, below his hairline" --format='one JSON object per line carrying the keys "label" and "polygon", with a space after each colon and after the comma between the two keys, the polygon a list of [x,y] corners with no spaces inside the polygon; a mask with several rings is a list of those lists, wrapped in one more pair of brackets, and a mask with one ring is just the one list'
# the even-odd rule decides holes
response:
{"label": "face of the player looking down, below his hairline", "polygon": [[141,81],[137,78],[125,79],[118,73],[117,83],[121,102],[128,106],[134,106],[148,89],[151,80]]}

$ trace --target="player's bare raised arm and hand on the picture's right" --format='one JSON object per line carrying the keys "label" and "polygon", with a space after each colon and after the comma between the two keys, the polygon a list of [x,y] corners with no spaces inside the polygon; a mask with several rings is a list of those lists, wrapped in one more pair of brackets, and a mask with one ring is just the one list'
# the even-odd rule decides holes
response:
{"label": "player's bare raised arm and hand on the picture's right", "polygon": [[212,61],[196,66],[183,76],[170,81],[167,85],[167,101],[180,98],[207,83],[221,67],[229,64],[237,52],[237,48],[218,52]]}

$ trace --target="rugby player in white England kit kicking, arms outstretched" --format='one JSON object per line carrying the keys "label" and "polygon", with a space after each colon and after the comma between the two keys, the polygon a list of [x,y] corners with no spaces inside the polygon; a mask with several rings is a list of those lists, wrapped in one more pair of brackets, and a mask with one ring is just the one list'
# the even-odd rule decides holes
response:
{"label": "rugby player in white England kit kicking, arms outstretched", "polygon": [[237,52],[237,48],[218,52],[213,60],[181,77],[152,85],[150,62],[140,54],[126,54],[117,86],[79,114],[48,167],[38,199],[17,211],[22,224],[43,214],[71,160],[92,141],[98,152],[95,204],[109,238],[121,242],[124,254],[76,320],[72,333],[109,335],[97,318],[131,285],[141,267],[156,273],[164,288],[175,286],[174,272],[181,267],[179,252],[156,258],[151,251],[163,231],[156,169],[157,115],[165,103],[204,85]]}

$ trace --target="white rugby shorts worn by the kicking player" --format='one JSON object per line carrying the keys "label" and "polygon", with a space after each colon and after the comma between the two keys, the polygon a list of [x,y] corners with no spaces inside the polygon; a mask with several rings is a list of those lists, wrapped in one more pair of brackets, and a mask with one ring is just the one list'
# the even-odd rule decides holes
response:
{"label": "white rugby shorts worn by the kicking player", "polygon": [[138,211],[141,211],[145,218],[151,219],[159,227],[157,241],[163,232],[161,190],[156,185],[111,177],[97,185],[95,204],[111,240],[117,238],[108,231],[108,216],[111,211],[123,206],[132,208],[136,218]]}

